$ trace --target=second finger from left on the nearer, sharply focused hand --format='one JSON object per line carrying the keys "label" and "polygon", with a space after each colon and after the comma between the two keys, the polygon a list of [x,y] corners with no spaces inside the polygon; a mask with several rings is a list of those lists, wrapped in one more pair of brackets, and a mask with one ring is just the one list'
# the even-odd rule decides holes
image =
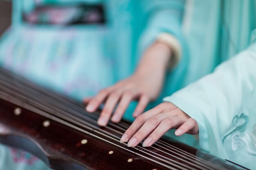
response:
{"label": "second finger from left on the nearer, sharply focused hand", "polygon": [[162,120],[168,117],[167,114],[159,113],[148,119],[145,124],[133,135],[133,137],[128,142],[128,147],[137,146],[146,136],[148,136]]}

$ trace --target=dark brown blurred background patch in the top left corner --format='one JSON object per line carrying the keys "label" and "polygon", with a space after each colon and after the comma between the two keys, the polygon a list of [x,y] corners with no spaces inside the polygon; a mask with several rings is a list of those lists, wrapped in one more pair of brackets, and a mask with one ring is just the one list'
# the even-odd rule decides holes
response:
{"label": "dark brown blurred background patch in the top left corner", "polygon": [[11,24],[11,2],[0,0],[0,36]]}

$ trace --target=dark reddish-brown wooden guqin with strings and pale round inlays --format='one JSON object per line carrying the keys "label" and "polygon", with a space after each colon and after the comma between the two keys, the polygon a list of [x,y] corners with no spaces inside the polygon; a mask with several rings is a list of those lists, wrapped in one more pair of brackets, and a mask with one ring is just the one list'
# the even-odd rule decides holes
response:
{"label": "dark reddish-brown wooden guqin with strings and pale round inlays", "polygon": [[0,68],[0,142],[56,170],[246,169],[173,140],[135,148],[120,143],[126,121],[97,125],[99,111]]}

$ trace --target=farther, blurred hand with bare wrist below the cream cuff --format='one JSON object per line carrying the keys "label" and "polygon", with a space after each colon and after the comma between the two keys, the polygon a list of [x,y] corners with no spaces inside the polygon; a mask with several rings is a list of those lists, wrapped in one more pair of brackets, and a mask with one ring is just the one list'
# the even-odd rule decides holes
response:
{"label": "farther, blurred hand with bare wrist below the cream cuff", "polygon": [[94,112],[105,102],[105,106],[98,119],[100,126],[106,126],[112,112],[117,105],[112,121],[118,123],[132,100],[138,100],[133,117],[137,117],[145,110],[150,101],[156,99],[162,89],[164,75],[171,57],[169,46],[155,43],[151,46],[137,68],[137,71],[127,79],[100,91],[93,98],[86,98],[86,110]]}

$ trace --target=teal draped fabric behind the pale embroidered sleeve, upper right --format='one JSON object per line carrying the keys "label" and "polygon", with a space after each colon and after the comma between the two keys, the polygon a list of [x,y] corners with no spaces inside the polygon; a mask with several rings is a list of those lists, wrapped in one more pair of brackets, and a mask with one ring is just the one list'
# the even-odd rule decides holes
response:
{"label": "teal draped fabric behind the pale embroidered sleeve, upper right", "polygon": [[[175,76],[181,87],[212,73],[218,64],[249,46],[256,28],[255,9],[255,0],[186,1],[182,20],[182,57],[186,57],[186,69],[182,77]],[[174,84],[168,86],[173,88]],[[173,130],[168,135],[175,137]],[[198,147],[197,139],[191,135],[176,139]]]}

